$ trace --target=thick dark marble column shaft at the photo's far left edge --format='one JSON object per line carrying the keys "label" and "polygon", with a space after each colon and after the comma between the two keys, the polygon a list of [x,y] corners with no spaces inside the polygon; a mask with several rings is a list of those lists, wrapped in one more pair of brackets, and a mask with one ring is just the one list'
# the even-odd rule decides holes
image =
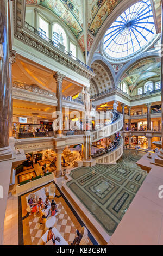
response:
{"label": "thick dark marble column shaft at the photo's far left edge", "polygon": [[0,39],[3,46],[3,56],[0,57],[0,148],[5,148],[9,145],[9,25],[7,0],[0,1],[0,14],[3,35]]}

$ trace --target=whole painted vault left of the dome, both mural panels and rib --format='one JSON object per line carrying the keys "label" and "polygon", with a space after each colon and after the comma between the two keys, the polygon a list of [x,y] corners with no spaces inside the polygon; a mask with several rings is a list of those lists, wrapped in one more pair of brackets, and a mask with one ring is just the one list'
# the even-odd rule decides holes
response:
{"label": "whole painted vault left of the dome, both mural panels and rib", "polygon": [[26,0],[28,5],[40,5],[57,15],[76,36],[84,53],[90,52],[99,29],[120,2],[87,0],[85,6],[83,0]]}

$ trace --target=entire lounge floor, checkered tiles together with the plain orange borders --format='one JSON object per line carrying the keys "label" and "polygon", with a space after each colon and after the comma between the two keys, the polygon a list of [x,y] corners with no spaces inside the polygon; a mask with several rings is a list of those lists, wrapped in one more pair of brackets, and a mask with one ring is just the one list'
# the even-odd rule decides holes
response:
{"label": "entire lounge floor, checkered tiles together with the plain orange borders", "polygon": [[[66,202],[66,199],[62,192],[59,190],[59,188],[56,189],[55,192],[56,196],[54,199],[57,203],[57,208],[59,212],[56,216],[56,228],[59,233],[64,237],[64,239],[68,242],[68,244],[70,244],[71,242],[73,242],[74,237],[76,237],[76,230],[81,230],[84,223],[82,223],[78,216],[75,216],[76,212],[72,209],[72,206],[69,205],[68,202]],[[19,245],[43,245],[44,243],[41,237],[45,233],[45,221],[43,221],[43,224],[40,225],[40,212],[36,216],[34,216],[34,214],[27,213],[26,197],[29,193],[18,197]],[[92,241],[89,239],[89,245],[96,245],[96,241],[92,238],[92,236],[90,237]]]}

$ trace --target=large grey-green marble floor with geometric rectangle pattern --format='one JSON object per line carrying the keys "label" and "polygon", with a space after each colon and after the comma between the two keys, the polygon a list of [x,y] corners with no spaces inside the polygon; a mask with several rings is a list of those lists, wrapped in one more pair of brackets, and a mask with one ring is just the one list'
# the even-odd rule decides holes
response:
{"label": "large grey-green marble floor with geometric rectangle pattern", "polygon": [[80,167],[71,172],[67,186],[112,235],[129,208],[147,173],[136,162],[145,153],[124,150],[116,165]]}

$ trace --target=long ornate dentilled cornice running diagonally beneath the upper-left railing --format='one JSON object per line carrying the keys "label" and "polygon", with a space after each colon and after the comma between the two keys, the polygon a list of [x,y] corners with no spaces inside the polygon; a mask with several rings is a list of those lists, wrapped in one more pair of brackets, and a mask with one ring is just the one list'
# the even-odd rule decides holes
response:
{"label": "long ornate dentilled cornice running diagonally beneath the upper-left railing", "polygon": [[45,56],[55,60],[56,62],[66,66],[68,69],[77,72],[87,79],[91,79],[95,76],[93,72],[86,67],[80,64],[80,61],[77,62],[72,58],[68,57],[63,52],[59,51],[56,47],[51,45],[49,42],[40,38],[39,35],[35,34],[34,32],[30,31],[24,24],[24,0],[20,2],[19,0],[14,0],[14,11],[13,11],[13,20],[14,20],[14,34],[15,38],[23,44],[26,44],[36,51],[39,51]]}

